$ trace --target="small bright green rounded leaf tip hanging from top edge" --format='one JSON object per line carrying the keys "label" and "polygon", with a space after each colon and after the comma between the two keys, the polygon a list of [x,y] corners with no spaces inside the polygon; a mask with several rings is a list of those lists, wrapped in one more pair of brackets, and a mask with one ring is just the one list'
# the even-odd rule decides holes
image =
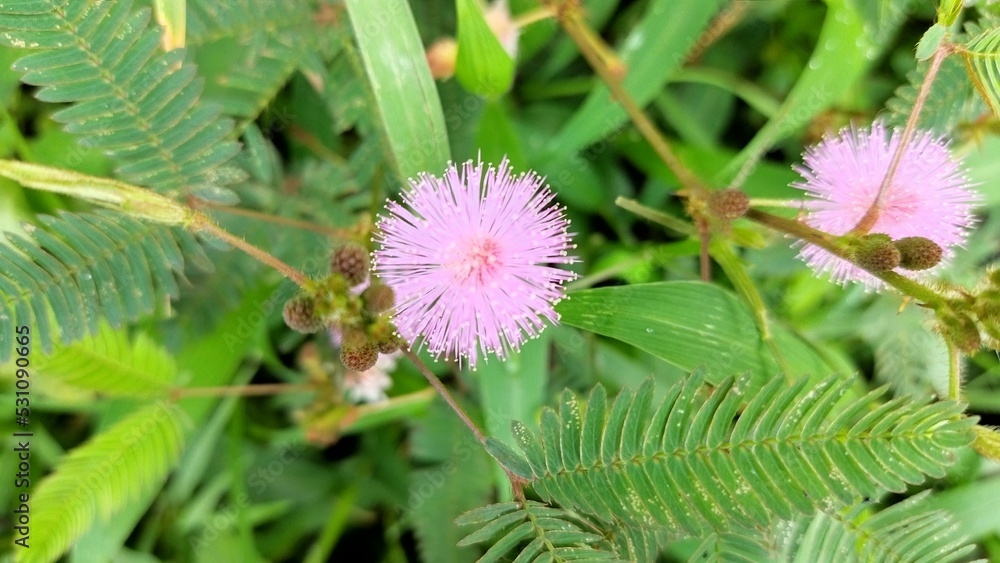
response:
{"label": "small bright green rounded leaf tip hanging from top edge", "polygon": [[500,45],[476,0],[455,0],[458,55],[455,78],[466,90],[496,98],[514,82],[514,60]]}

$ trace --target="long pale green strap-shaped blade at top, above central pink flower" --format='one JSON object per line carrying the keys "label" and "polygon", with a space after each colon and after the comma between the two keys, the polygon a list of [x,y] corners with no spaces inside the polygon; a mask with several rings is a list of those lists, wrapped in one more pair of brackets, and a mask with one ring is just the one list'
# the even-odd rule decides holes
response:
{"label": "long pale green strap-shaped blade at top, above central pink flower", "polygon": [[358,50],[401,179],[440,174],[448,132],[406,0],[347,0]]}

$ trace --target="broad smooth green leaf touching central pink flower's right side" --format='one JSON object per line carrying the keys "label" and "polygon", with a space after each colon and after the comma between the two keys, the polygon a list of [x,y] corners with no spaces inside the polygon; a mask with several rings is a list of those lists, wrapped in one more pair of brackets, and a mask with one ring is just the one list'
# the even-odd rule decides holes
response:
{"label": "broad smooth green leaf touching central pink flower's right side", "polygon": [[746,307],[701,282],[661,282],[570,293],[560,322],[627,342],[686,371],[704,367],[711,382],[770,373],[769,352]]}

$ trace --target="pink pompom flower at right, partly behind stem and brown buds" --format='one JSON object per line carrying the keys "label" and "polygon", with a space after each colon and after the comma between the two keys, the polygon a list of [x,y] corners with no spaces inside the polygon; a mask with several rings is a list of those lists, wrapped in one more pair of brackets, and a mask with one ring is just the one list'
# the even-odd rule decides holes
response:
{"label": "pink pompom flower at right, partly behind stem and brown buds", "polygon": [[[875,201],[901,131],[889,131],[879,122],[870,130],[844,129],[805,153],[805,166],[796,166],[805,182],[792,184],[816,198],[806,204],[806,223],[842,235],[855,225]],[[944,249],[942,263],[961,246],[973,223],[977,195],[948,143],[929,132],[917,132],[903,153],[872,233],[895,239],[922,236]],[[871,289],[881,280],[827,251],[805,245],[799,256],[820,273],[846,285],[862,282]],[[915,274],[898,270],[907,276]],[[934,270],[928,270],[933,272]]]}

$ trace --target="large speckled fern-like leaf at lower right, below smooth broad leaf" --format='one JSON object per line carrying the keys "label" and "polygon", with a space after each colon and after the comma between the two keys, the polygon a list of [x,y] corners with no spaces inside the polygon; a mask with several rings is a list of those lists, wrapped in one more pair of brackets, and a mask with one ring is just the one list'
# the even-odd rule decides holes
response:
{"label": "large speckled fern-like leaf at lower right, below smooth broad leaf", "polygon": [[651,381],[610,404],[600,387],[586,405],[567,393],[537,436],[514,423],[524,459],[512,466],[567,509],[702,537],[902,492],[943,476],[972,440],[957,403],[876,405],[875,391],[844,406],[852,383],[837,378],[777,378],[738,414],[748,383],[709,388],[695,373],[655,408]]}

